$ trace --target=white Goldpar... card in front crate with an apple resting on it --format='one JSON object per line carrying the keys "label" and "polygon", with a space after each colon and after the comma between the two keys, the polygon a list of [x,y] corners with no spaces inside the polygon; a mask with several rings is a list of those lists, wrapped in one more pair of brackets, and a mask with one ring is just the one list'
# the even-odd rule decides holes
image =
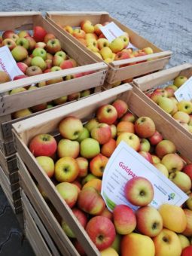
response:
{"label": "white Goldpar... card in front crate with an apple resting on it", "polygon": [[[129,145],[126,145],[125,142],[120,142],[108,160],[102,177],[101,194],[110,211],[113,211],[114,207],[120,204],[130,206],[134,211],[139,208],[126,200],[124,193],[126,182],[134,177],[144,177],[151,182],[154,198],[150,206],[154,206],[156,209],[163,203],[181,206],[188,198],[187,194],[169,178],[166,178],[148,160]],[[136,189],[139,189],[140,185],[141,181]]]}

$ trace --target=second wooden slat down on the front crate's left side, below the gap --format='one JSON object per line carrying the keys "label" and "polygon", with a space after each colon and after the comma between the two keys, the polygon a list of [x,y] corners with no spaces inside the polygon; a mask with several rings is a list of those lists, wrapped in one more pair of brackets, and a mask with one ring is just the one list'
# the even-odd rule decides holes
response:
{"label": "second wooden slat down on the front crate's left side, below the gap", "polygon": [[[59,248],[62,255],[79,255],[78,251],[75,250],[69,237],[62,230],[56,217],[50,211],[44,198],[41,196],[35,182],[32,180],[29,171],[26,169],[20,156],[17,154],[17,163],[20,169],[20,187],[29,198],[31,205],[37,212],[38,217],[41,218],[44,227],[49,231],[50,236]],[[70,253],[69,253],[70,251]]]}

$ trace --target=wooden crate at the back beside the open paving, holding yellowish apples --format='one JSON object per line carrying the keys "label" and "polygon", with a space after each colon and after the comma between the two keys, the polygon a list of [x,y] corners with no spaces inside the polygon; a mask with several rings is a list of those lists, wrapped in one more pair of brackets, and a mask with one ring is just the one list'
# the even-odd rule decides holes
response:
{"label": "wooden crate at the back beside the open paving, holding yellowish apples", "polygon": [[[96,23],[105,23],[105,22],[114,22],[117,26],[120,27],[124,32],[127,32],[130,35],[130,41],[133,45],[135,45],[138,49],[142,49],[144,47],[151,47],[154,50],[154,53],[150,56],[139,56],[132,59],[123,59],[116,60],[108,64],[108,75],[107,81],[109,84],[114,84],[117,81],[123,81],[128,78],[135,78],[140,75],[148,74],[149,72],[158,71],[163,69],[166,64],[169,62],[172,52],[170,50],[163,51],[159,47],[152,44],[150,41],[142,38],[142,36],[138,35],[136,32],[124,26],[119,21],[115,20],[110,16],[107,12],[79,12],[79,11],[49,11],[47,12],[47,20],[49,20],[63,35],[68,36],[72,41],[75,42],[79,47],[84,49],[85,52],[90,54],[97,62],[101,62],[94,53],[84,47],[78,40],[76,40],[72,35],[68,32],[64,31],[62,27],[64,26],[79,26],[81,21],[90,20],[93,24]],[[59,25],[58,25],[59,24]],[[125,64],[132,64],[134,62],[145,61],[147,59],[151,59],[147,62],[137,63],[135,65],[120,67]]]}

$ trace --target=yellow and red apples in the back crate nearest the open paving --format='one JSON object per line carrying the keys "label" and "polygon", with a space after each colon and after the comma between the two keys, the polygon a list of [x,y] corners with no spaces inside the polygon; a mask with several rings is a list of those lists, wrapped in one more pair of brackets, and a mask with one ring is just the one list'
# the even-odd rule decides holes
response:
{"label": "yellow and red apples in the back crate nearest the open paving", "polygon": [[[110,43],[100,29],[108,23],[109,22],[105,22],[93,26],[90,20],[83,20],[80,23],[80,28],[73,29],[72,26],[64,26],[62,29],[69,32],[69,34],[74,36],[81,44],[87,47],[87,49],[91,50],[96,56],[105,60],[107,63],[113,62],[114,60],[130,59],[136,56],[145,56],[153,53],[151,47],[145,47],[142,50],[133,50],[131,47],[128,48],[130,37],[127,32],[115,38]],[[135,62],[135,64],[136,63],[139,62]],[[133,63],[127,65],[133,65]]]}

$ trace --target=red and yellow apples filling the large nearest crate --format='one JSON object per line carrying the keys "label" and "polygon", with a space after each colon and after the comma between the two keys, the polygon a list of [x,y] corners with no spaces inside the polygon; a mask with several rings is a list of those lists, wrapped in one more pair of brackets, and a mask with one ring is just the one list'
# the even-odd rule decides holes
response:
{"label": "red and yellow apples filling the large nearest crate", "polygon": [[[136,118],[126,102],[116,99],[100,106],[87,123],[69,116],[58,128],[58,141],[50,134],[38,134],[29,142],[29,150],[102,255],[184,256],[189,255],[186,250],[192,254],[192,163],[184,163],[174,143],[163,139],[150,117]],[[182,208],[165,204],[157,210],[149,206],[153,186],[146,178],[133,177],[123,190],[127,202],[139,209],[133,212],[129,206],[119,205],[109,212],[100,194],[102,175],[121,141],[189,194]],[[49,200],[41,184],[38,187]],[[68,224],[61,221],[61,225],[85,255]]]}

